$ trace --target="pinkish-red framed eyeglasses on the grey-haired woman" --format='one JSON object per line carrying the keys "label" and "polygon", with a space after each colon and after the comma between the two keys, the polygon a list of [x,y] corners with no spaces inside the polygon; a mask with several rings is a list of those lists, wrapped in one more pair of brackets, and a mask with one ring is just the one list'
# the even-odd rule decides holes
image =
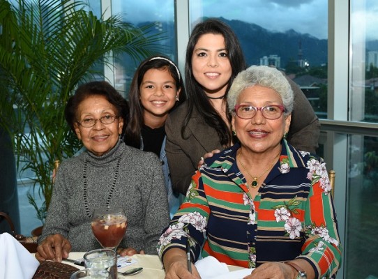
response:
{"label": "pinkish-red framed eyeglasses on the grey-haired woman", "polygon": [[254,107],[252,105],[236,105],[234,107],[236,115],[241,119],[252,119],[257,111],[262,112],[262,116],[266,119],[278,119],[285,112],[283,105],[266,105],[265,107]]}

